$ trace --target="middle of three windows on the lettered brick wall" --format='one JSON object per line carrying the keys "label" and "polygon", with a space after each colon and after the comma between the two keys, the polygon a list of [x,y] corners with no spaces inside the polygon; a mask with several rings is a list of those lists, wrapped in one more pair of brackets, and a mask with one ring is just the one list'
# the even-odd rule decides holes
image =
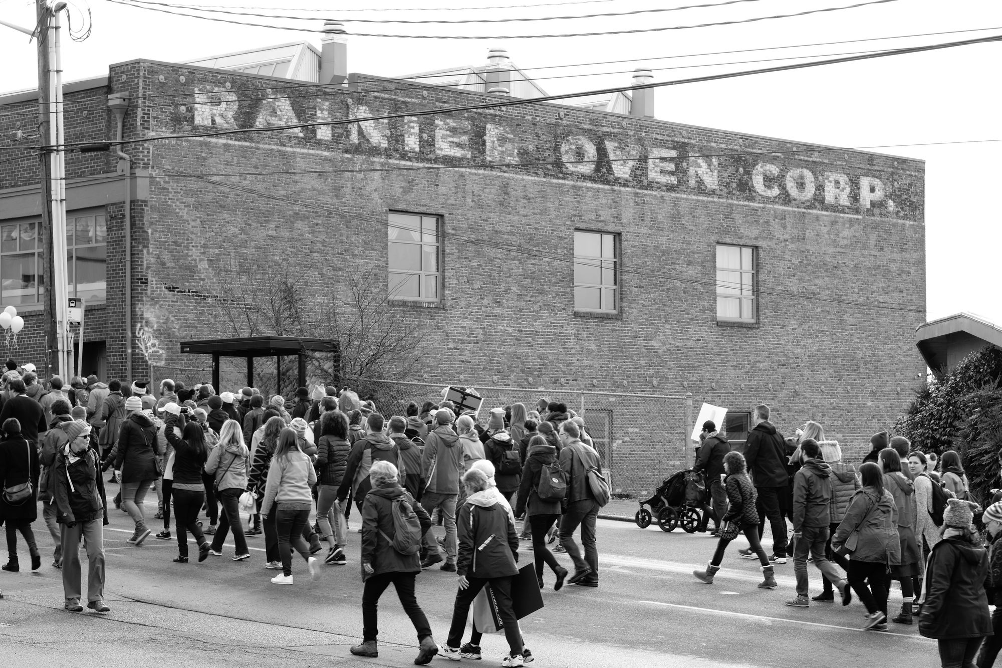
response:
{"label": "middle of three windows on the lettered brick wall", "polygon": [[574,231],[574,310],[619,311],[619,235]]}

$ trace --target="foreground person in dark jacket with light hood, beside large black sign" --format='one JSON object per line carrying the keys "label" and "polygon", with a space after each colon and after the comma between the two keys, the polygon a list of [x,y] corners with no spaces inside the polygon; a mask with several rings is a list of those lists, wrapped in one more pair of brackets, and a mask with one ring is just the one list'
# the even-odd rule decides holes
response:
{"label": "foreground person in dark jacket with light hood, beside large black sign", "polygon": [[501,665],[517,662],[521,666],[524,646],[511,600],[512,578],[518,575],[515,525],[507,509],[497,502],[494,494],[484,493],[488,489],[486,473],[471,468],[463,475],[463,484],[466,485],[466,503],[456,518],[459,530],[459,557],[456,560],[459,591],[456,592],[449,638],[442,653],[446,658],[459,659],[470,604],[489,584],[497,602],[498,616],[504,623],[510,650]]}

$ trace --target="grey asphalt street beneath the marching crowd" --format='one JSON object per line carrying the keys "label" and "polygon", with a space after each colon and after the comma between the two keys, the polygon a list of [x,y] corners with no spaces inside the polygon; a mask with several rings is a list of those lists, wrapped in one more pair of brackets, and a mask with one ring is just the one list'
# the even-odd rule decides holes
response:
{"label": "grey asphalt street beneath the marching crowd", "polygon": [[[115,486],[109,485],[109,494]],[[155,504],[150,493],[147,517]],[[34,525],[42,568],[0,573],[0,665],[412,664],[416,638],[392,590],[380,606],[380,657],[359,659],[349,653],[362,631],[357,513],[349,565],[324,566],[314,582],[297,557],[292,587],[271,584],[276,572],[264,568],[263,537],[248,539],[247,561],[230,561],[229,539],[222,557],[179,565],[170,561],[176,556],[174,541],[150,537],[141,547],[129,546],[128,516],[112,510],[110,519],[105,528],[107,615],[62,610],[61,575],[50,565],[52,542],[41,520]],[[159,523],[151,520],[154,526]],[[442,529],[435,531],[441,534]],[[597,533],[601,586],[554,592],[547,573],[545,607],[521,622],[534,665],[939,665],[935,642],[919,636],[915,626],[892,624],[890,633],[861,631],[865,610],[858,602],[848,608],[838,603],[813,603],[809,609],[784,605],[794,594],[792,561],[777,567],[779,588],[758,589],[758,562],[736,555],[737,548],[746,547],[743,539],[730,546],[715,583],[707,586],[691,571],[713,551],[715,540],[708,535],[665,534],[656,526],[640,530],[610,520],[600,520]],[[766,544],[768,549],[768,535]],[[21,552],[26,553],[23,544]],[[520,553],[522,563],[531,560],[528,543]],[[558,559],[571,568],[566,555]],[[22,554],[22,569],[26,563]],[[821,574],[809,568],[816,594]],[[418,600],[439,643],[445,642],[455,592],[455,574],[437,567],[418,578]],[[900,604],[900,591],[892,591],[890,606]],[[504,637],[485,636],[483,647],[481,664],[499,665]],[[445,661],[436,658],[433,665]]]}

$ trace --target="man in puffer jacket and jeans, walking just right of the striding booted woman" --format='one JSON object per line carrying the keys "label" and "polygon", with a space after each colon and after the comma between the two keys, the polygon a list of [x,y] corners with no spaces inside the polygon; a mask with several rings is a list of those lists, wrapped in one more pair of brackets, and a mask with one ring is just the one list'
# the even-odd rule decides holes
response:
{"label": "man in puffer jacket and jeans, walking just right of the striding booted woman", "polygon": [[801,443],[804,465],[794,476],[794,574],[797,576],[797,596],[788,606],[807,608],[808,555],[825,577],[835,582],[842,594],[843,605],[852,596],[847,583],[832,562],[825,558],[829,527],[832,524],[832,467],[821,459],[821,447],[814,438]]}

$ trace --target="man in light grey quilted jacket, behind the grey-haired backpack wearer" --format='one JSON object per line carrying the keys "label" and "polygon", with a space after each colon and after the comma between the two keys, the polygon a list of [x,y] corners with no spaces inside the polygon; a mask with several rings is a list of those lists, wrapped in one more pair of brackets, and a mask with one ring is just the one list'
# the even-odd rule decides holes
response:
{"label": "man in light grey quilted jacket, behind the grey-haired backpack wearer", "polygon": [[[428,480],[421,506],[431,515],[439,508],[445,518],[446,563],[443,571],[456,570],[456,498],[459,495],[459,476],[464,469],[463,448],[459,446],[459,436],[450,426],[455,414],[440,408],[435,413],[434,427],[425,441],[425,451],[421,455],[421,476]],[[431,532],[425,534],[423,549],[427,557],[421,562],[426,569],[442,561],[441,550]]]}

